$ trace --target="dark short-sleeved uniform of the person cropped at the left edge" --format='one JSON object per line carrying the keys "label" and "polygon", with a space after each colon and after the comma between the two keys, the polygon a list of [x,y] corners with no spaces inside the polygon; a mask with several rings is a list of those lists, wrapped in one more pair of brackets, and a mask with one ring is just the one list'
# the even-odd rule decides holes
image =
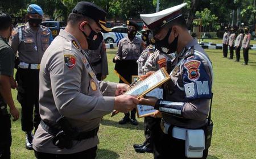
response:
{"label": "dark short-sleeved uniform of the person cropped at the left edge", "polygon": [[[13,77],[14,52],[5,38],[0,36],[0,74]],[[1,85],[2,83],[0,83]],[[10,158],[11,152],[11,119],[7,112],[7,104],[0,94],[0,158]]]}

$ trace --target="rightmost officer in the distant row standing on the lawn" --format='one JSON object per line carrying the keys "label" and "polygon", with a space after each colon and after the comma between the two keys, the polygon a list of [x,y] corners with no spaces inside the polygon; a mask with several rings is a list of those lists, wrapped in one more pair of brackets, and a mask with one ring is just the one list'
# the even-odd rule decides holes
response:
{"label": "rightmost officer in the distant row standing on the lawn", "polygon": [[251,34],[249,32],[249,28],[245,27],[245,36],[243,37],[243,42],[242,42],[243,59],[245,60],[243,65],[248,65],[250,41],[251,41]]}

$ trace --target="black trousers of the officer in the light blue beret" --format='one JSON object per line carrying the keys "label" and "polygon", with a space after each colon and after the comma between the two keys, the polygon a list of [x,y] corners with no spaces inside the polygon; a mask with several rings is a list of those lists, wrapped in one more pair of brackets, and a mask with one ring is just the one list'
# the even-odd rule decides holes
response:
{"label": "black trousers of the officer in the light blue beret", "polygon": [[[18,82],[17,100],[22,106],[22,131],[35,131],[40,124],[39,114],[39,70],[18,69],[16,72],[16,81]],[[33,120],[33,109],[34,120]]]}

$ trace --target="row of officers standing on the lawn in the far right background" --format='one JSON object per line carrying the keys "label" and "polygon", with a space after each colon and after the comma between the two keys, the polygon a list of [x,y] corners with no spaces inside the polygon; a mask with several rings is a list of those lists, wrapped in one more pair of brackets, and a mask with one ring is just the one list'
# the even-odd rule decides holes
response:
{"label": "row of officers standing on the lawn in the far right background", "polygon": [[243,65],[247,65],[249,61],[249,49],[250,49],[250,40],[251,40],[251,34],[249,32],[249,28],[245,27],[244,30],[242,28],[239,28],[236,30],[235,28],[225,27],[225,32],[223,35],[223,57],[228,56],[228,47],[230,51],[230,56],[228,59],[233,59],[234,56],[234,50],[236,51],[236,60],[235,62],[240,61],[240,51],[242,48],[243,51],[243,59],[245,62]]}

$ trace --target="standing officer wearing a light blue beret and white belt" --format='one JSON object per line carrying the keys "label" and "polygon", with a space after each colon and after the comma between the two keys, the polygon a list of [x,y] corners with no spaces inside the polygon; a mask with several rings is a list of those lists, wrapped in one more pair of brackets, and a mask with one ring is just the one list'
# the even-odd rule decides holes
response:
{"label": "standing officer wearing a light blue beret and white belt", "polygon": [[18,51],[20,62],[16,72],[17,99],[22,106],[21,124],[22,131],[26,132],[26,148],[31,150],[32,130],[35,128],[36,131],[41,120],[38,107],[40,62],[52,41],[52,35],[47,27],[40,25],[43,10],[38,5],[28,6],[26,19],[26,24],[14,30],[10,45],[14,53]]}

